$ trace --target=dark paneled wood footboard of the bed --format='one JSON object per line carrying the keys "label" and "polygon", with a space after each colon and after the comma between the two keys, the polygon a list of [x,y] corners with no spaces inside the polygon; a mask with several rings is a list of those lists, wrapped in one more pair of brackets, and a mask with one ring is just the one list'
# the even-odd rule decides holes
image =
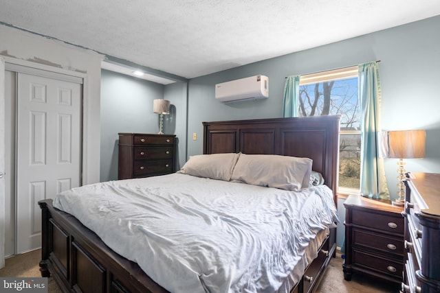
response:
{"label": "dark paneled wood footboard of the bed", "polygon": [[64,292],[168,292],[72,215],[55,209],[52,200],[39,205],[41,276],[52,275]]}

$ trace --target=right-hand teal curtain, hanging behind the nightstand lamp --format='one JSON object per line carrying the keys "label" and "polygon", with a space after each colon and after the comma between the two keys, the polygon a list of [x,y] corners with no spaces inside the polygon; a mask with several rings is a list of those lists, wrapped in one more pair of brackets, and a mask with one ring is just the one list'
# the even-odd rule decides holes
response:
{"label": "right-hand teal curtain, hanging behind the nightstand lamp", "polygon": [[359,65],[359,99],[361,110],[360,192],[369,198],[390,199],[386,185],[384,159],[379,157],[377,132],[380,129],[382,90],[377,62]]}

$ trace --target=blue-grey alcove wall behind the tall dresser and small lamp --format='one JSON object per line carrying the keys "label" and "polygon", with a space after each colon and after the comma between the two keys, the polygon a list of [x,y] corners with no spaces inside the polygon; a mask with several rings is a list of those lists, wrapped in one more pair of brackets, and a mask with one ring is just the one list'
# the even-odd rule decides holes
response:
{"label": "blue-grey alcove wall behind the tall dresser and small lamp", "polygon": [[157,84],[112,71],[101,73],[100,181],[118,179],[118,133],[157,133],[159,115],[153,99],[168,99],[164,133],[176,134],[176,167],[186,161],[186,82]]}

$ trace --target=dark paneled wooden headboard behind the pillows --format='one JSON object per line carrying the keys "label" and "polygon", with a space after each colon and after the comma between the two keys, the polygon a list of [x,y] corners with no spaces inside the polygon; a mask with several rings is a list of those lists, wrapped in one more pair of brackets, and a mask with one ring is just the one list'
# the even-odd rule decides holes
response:
{"label": "dark paneled wooden headboard behind the pillows", "polygon": [[312,159],[337,202],[340,116],[203,122],[203,154],[242,152]]}

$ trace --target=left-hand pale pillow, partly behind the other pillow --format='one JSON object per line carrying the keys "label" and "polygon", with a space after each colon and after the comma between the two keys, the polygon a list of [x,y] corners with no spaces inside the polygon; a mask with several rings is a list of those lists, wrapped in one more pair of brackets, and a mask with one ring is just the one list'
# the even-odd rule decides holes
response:
{"label": "left-hand pale pillow, partly behind the other pillow", "polygon": [[229,181],[239,155],[227,153],[190,156],[190,159],[177,173]]}

